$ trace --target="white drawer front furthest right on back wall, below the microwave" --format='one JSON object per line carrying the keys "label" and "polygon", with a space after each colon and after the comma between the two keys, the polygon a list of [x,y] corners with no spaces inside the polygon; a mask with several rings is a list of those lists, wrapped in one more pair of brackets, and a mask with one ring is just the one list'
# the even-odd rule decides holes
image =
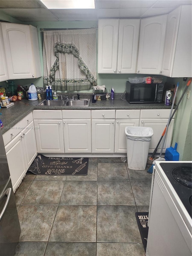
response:
{"label": "white drawer front furthest right on back wall, below the microwave", "polygon": [[[170,111],[171,109],[142,109],[140,118],[169,118]],[[173,118],[174,117],[175,115],[173,116]]]}

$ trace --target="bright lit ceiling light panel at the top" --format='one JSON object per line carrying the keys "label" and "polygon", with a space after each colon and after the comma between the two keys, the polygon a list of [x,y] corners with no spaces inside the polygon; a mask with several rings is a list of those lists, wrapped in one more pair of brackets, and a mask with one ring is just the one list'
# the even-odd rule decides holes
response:
{"label": "bright lit ceiling light panel at the top", "polygon": [[40,0],[48,9],[94,9],[94,0]]}

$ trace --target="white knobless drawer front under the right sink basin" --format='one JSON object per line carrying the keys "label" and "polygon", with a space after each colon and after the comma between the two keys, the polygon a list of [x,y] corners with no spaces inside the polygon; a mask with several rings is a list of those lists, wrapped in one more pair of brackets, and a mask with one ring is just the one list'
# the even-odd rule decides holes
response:
{"label": "white knobless drawer front under the right sink basin", "polygon": [[91,119],[91,110],[62,110],[63,119]]}

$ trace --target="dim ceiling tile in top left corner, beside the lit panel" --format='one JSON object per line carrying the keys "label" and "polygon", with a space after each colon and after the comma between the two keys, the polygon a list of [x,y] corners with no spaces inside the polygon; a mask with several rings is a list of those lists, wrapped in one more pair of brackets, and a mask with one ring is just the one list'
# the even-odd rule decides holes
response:
{"label": "dim ceiling tile in top left corner, beside the lit panel", "polygon": [[37,0],[0,0],[0,8],[44,8]]}

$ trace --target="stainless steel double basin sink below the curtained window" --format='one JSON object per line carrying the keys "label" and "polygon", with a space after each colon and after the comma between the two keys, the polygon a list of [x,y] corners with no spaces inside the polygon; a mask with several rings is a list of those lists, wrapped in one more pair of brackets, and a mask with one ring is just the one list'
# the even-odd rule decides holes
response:
{"label": "stainless steel double basin sink below the curtained window", "polygon": [[64,99],[64,100],[52,100],[52,101],[42,101],[40,106],[67,106],[67,107],[88,107],[90,99]]}

